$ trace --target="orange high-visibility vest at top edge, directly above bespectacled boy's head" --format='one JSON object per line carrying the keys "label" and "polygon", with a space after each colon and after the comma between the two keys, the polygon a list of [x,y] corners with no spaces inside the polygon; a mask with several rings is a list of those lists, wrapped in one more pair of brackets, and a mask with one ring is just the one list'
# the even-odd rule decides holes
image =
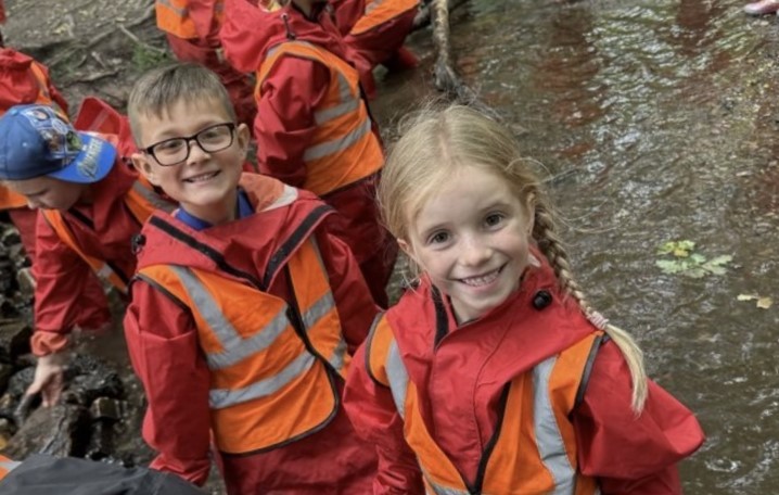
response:
{"label": "orange high-visibility vest at top edge, directly above bespectacled boy's head", "polygon": [[154,11],[157,27],[182,39],[205,38],[210,31],[212,21],[221,26],[225,18],[224,0],[156,0]]}

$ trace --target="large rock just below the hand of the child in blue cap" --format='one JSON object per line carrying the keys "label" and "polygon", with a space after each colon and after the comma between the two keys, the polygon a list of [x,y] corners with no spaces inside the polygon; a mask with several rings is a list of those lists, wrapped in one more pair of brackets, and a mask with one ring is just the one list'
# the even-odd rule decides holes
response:
{"label": "large rock just below the hand of the child in blue cap", "polygon": [[84,457],[90,435],[87,408],[73,404],[40,407],[9,441],[2,454],[12,459],[24,459],[33,453]]}

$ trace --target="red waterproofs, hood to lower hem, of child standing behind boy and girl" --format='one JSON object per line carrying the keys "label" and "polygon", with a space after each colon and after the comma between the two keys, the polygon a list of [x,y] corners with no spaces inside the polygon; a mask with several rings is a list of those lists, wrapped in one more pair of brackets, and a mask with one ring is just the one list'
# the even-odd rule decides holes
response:
{"label": "red waterproofs, hood to lower hem, of child standing behind boy and girl", "polygon": [[[333,24],[330,9],[318,5],[316,22],[288,5],[265,12],[245,0],[226,0],[220,38],[230,63],[242,72],[258,71],[271,48],[294,38],[350,60],[348,47]],[[330,71],[310,59],[283,56],[263,81],[254,136],[259,170],[294,187],[306,181],[304,154],[315,138],[315,113],[330,87]],[[378,136],[378,129],[373,126]],[[340,234],[354,251],[374,299],[386,305],[384,288],[397,246],[379,224],[374,201],[378,176],[323,195],[342,214]]]}

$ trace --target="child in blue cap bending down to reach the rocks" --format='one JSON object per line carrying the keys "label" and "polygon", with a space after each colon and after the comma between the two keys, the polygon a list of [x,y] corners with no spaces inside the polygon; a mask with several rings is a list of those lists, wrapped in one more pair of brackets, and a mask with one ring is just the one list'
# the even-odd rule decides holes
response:
{"label": "child in blue cap bending down to reach the rocks", "polygon": [[115,137],[77,131],[48,105],[16,105],[0,118],[0,180],[42,213],[33,266],[38,367],[26,393],[42,392],[44,406],[59,401],[76,323],[107,323],[104,295],[103,310],[94,312],[101,320],[84,320],[82,305],[95,303],[85,292],[99,287],[91,272],[124,291],[135,270],[130,239],[155,207],[171,206],[139,181],[116,144]]}

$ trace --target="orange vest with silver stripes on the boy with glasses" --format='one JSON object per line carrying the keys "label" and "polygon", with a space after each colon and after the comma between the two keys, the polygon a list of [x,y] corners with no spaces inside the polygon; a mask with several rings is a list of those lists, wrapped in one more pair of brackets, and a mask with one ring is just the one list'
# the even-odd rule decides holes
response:
{"label": "orange vest with silver stripes on the boy with glasses", "polygon": [[[293,188],[283,191],[265,211],[294,201]],[[265,270],[285,270],[292,287],[289,302],[266,292],[261,281],[219,267],[154,264],[139,269],[138,279],[192,313],[210,370],[212,428],[220,452],[282,447],[318,431],[336,414],[335,373],[346,377],[350,357],[319,249],[305,234],[322,208],[278,242]],[[159,231],[154,236],[197,248],[196,240],[188,241],[186,232],[159,216],[144,231],[151,228]]]}

